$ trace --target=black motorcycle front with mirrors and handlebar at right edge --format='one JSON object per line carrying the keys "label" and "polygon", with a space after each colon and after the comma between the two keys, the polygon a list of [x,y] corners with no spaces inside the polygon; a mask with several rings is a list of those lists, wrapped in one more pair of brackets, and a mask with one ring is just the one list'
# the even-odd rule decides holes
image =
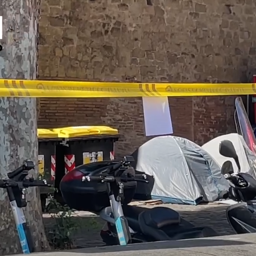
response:
{"label": "black motorcycle front with mirrors and handlebar at right edge", "polygon": [[256,233],[256,180],[248,173],[240,172],[239,158],[233,143],[223,140],[219,145],[219,152],[224,157],[233,158],[238,167],[234,173],[230,161],[223,163],[221,173],[230,182],[229,192],[225,198],[235,202],[226,210],[227,220],[237,234]]}

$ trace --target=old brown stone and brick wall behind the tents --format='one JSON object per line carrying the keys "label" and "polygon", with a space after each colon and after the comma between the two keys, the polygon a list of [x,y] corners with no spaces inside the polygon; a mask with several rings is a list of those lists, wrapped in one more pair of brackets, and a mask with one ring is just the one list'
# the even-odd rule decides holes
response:
{"label": "old brown stone and brick wall behind the tents", "polygon": [[[247,81],[255,13],[253,0],[44,0],[39,78]],[[233,129],[233,97],[169,102],[176,135],[204,143]],[[119,154],[146,140],[140,98],[40,100],[41,127],[102,124],[119,129]]]}

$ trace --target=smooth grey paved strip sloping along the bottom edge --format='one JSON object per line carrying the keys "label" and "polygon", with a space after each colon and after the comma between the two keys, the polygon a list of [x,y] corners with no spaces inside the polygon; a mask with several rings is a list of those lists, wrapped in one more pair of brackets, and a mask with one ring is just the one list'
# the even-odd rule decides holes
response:
{"label": "smooth grey paved strip sloping along the bottom edge", "polygon": [[[252,256],[256,235],[218,236],[205,239],[163,241],[127,246],[94,247],[40,253],[41,256]],[[38,255],[32,253],[31,255]]]}

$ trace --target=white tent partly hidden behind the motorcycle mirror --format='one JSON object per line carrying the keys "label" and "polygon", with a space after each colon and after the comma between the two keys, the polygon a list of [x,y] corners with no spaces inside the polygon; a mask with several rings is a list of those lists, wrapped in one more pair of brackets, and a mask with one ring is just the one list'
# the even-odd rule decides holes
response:
{"label": "white tent partly hidden behind the motorcycle mirror", "polygon": [[207,151],[215,161],[222,166],[222,164],[230,160],[233,164],[234,172],[238,171],[238,167],[236,165],[235,160],[229,157],[224,157],[219,153],[219,144],[222,140],[230,140],[232,141],[235,149],[236,154],[238,155],[239,163],[241,166],[241,172],[249,172],[251,175],[255,176],[255,172],[251,166],[255,165],[256,163],[256,156],[253,152],[248,148],[246,145],[244,138],[236,133],[233,134],[225,134],[219,137],[216,137],[209,142],[205,143],[202,148]]}

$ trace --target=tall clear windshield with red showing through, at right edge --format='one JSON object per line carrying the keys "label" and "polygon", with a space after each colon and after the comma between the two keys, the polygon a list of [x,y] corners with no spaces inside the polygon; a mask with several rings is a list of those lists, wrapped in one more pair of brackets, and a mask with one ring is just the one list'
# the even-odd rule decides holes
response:
{"label": "tall clear windshield with red showing through, at right edge", "polygon": [[256,138],[241,97],[236,98],[235,105],[236,132],[241,135],[240,140],[250,166],[249,173],[256,178]]}

